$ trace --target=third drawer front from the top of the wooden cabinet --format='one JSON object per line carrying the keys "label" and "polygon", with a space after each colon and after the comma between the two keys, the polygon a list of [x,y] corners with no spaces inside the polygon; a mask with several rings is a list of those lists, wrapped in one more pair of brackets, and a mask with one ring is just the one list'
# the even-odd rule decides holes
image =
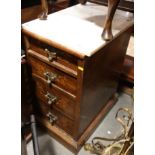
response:
{"label": "third drawer front from the top of the wooden cabinet", "polygon": [[74,99],[57,89],[57,87],[46,86],[39,77],[33,76],[35,80],[36,96],[51,108],[57,109],[67,117],[74,120],[75,101]]}

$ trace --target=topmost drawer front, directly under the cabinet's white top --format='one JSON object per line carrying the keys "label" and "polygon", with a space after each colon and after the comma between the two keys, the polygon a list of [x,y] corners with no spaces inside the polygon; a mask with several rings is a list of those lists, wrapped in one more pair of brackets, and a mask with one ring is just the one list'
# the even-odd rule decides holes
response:
{"label": "topmost drawer front, directly under the cabinet's white top", "polygon": [[29,38],[29,42],[30,49],[47,57],[49,62],[55,61],[77,72],[77,58],[73,55],[33,38]]}

